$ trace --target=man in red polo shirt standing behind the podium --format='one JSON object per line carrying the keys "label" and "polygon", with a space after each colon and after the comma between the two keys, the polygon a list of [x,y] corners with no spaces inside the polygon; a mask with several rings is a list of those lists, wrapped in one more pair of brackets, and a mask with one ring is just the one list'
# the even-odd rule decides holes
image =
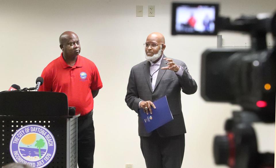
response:
{"label": "man in red polo shirt standing behind the podium", "polygon": [[74,32],[60,35],[60,57],[43,70],[44,79],[39,91],[65,93],[68,106],[76,107],[78,118],[78,167],[93,167],[95,133],[93,124],[93,98],[103,87],[99,71],[91,60],[80,56],[81,46]]}

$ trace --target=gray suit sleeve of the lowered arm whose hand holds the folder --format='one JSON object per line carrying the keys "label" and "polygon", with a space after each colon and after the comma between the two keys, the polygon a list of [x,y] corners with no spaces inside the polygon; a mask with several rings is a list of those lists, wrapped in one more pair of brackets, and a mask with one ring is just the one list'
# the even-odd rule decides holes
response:
{"label": "gray suit sleeve of the lowered arm whose hand holds the folder", "polygon": [[131,69],[130,75],[129,75],[129,83],[127,85],[127,95],[125,98],[125,101],[127,103],[127,106],[131,110],[134,110],[136,113],[139,113],[139,102],[142,99],[139,98],[136,82],[133,74],[133,68]]}

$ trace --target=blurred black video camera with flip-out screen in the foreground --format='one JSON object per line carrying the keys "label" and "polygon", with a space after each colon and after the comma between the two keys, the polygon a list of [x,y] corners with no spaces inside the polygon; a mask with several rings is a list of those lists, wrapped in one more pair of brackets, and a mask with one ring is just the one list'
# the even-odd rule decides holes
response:
{"label": "blurred black video camera with flip-out screen in the foreground", "polygon": [[203,52],[201,96],[206,101],[242,107],[225,122],[226,135],[214,138],[217,165],[274,167],[274,153],[258,152],[251,124],[275,123],[276,43],[268,49],[266,35],[271,32],[276,39],[276,13],[272,17],[242,16],[231,21],[218,15],[217,4],[173,3],[172,20],[172,34],[216,35],[229,30],[250,35],[250,49],[216,48]]}

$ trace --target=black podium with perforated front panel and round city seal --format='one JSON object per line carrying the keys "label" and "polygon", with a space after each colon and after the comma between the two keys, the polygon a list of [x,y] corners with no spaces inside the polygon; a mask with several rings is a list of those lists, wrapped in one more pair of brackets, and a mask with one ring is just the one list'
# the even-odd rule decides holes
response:
{"label": "black podium with perforated front panel and round city seal", "polygon": [[64,93],[0,93],[0,167],[16,159],[32,167],[76,168],[78,116],[68,115]]}

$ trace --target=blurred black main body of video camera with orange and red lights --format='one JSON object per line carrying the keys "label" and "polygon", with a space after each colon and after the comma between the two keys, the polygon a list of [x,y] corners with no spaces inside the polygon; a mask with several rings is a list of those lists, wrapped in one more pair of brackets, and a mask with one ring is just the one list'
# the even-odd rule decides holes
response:
{"label": "blurred black main body of video camera with orange and red lights", "polygon": [[275,48],[207,49],[201,68],[201,95],[206,101],[238,104],[263,122],[275,122]]}

